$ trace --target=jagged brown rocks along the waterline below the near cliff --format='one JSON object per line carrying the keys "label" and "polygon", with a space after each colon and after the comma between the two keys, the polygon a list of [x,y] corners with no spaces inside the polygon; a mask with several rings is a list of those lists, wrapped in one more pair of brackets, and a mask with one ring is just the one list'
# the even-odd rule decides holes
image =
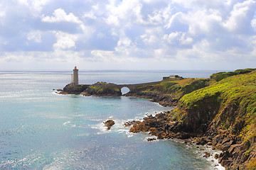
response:
{"label": "jagged brown rocks along the waterline below the near cliff", "polygon": [[[222,151],[221,154],[215,154],[215,159],[225,167],[225,169],[245,169],[245,163],[249,154],[245,154],[250,143],[242,142],[240,137],[230,135],[225,130],[215,129],[210,125],[206,132],[190,132],[178,122],[169,119],[170,112],[149,115],[141,121],[132,121],[124,123],[130,125],[129,132],[149,132],[149,135],[156,136],[158,139],[180,139],[185,143],[193,143],[196,145],[210,145],[212,149]],[[155,140],[151,137],[148,141]],[[253,142],[253,141],[252,141]],[[210,157],[210,153],[206,152],[203,157]]]}

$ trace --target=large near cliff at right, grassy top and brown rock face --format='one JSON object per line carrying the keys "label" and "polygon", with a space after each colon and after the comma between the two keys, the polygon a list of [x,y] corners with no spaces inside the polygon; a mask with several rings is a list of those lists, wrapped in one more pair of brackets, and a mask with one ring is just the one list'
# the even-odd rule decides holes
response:
{"label": "large near cliff at right, grassy top and brown rock face", "polygon": [[256,161],[256,72],[186,94],[169,118],[184,125],[185,132],[212,137],[213,146],[225,151],[220,163],[227,169],[252,166]]}

